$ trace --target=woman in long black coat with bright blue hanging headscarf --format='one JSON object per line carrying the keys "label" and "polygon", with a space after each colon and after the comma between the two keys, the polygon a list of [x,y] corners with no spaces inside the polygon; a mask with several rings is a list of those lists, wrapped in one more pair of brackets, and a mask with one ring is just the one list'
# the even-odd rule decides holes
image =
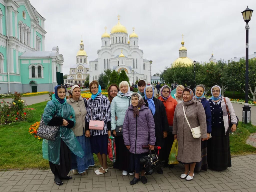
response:
{"label": "woman in long black coat with bright blue hanging headscarf", "polygon": [[[143,98],[145,101],[145,106],[149,107],[155,123],[155,135],[156,135],[156,143],[155,146],[164,147],[164,138],[167,136],[167,131],[169,130],[169,124],[166,116],[165,106],[162,101],[154,97],[154,89],[151,85],[148,85],[144,89],[145,97]],[[166,160],[164,155],[161,155],[161,150],[159,157],[161,161]],[[163,174],[162,169],[157,170],[158,174]]]}

